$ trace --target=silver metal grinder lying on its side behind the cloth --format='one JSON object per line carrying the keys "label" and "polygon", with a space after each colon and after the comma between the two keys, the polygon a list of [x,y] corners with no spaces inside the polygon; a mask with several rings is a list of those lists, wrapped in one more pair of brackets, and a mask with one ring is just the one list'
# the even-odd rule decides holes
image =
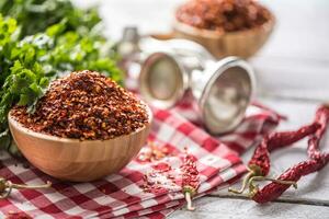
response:
{"label": "silver metal grinder lying on its side behind the cloth", "polygon": [[139,48],[139,92],[148,103],[169,108],[192,92],[205,127],[216,135],[242,120],[256,89],[248,62],[238,57],[217,61],[203,46],[186,39],[144,37]]}

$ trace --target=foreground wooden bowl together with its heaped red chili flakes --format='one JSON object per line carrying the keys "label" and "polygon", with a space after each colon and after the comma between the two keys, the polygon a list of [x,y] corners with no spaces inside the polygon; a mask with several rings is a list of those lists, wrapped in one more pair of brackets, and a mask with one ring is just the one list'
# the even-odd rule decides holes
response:
{"label": "foreground wooden bowl together with its heaped red chili flakes", "polygon": [[88,182],[123,169],[147,140],[149,107],[114,81],[92,71],[55,80],[33,114],[14,106],[12,136],[41,171]]}

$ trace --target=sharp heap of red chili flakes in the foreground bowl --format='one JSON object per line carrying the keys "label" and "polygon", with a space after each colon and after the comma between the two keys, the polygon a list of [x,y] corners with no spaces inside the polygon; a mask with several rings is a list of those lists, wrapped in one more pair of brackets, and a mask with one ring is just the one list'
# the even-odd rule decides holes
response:
{"label": "sharp heap of red chili flakes in the foreground bowl", "polygon": [[80,140],[106,140],[144,127],[147,107],[113,80],[93,71],[55,80],[36,111],[14,106],[11,115],[37,132]]}

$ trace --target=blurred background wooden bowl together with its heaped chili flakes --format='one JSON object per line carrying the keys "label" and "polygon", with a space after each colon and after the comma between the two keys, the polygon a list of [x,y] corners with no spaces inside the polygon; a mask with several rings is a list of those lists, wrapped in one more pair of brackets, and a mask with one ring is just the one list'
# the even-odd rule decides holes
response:
{"label": "blurred background wooden bowl together with its heaped chili flakes", "polygon": [[175,12],[174,37],[195,41],[216,58],[249,58],[268,41],[274,15],[254,0],[190,0]]}

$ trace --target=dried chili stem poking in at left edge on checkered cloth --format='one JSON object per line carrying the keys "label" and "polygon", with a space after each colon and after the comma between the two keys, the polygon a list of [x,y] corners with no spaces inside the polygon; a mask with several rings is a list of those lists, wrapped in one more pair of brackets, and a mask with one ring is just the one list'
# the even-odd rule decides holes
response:
{"label": "dried chili stem poking in at left edge on checkered cloth", "polygon": [[13,188],[15,189],[23,189],[23,188],[48,188],[52,186],[50,182],[47,182],[45,185],[24,185],[24,184],[14,184],[11,181],[0,177],[0,199],[7,198]]}

